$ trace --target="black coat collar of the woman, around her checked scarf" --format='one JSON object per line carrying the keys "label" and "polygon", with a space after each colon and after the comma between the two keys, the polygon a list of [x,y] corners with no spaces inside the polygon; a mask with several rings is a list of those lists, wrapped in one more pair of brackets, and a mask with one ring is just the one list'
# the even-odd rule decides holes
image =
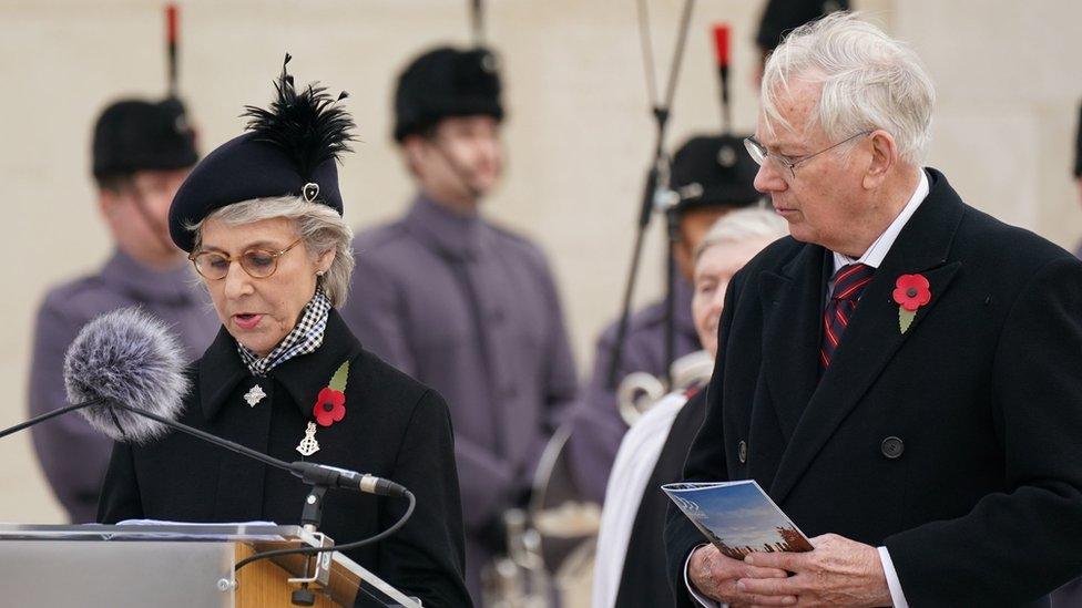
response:
{"label": "black coat collar of the woman, around her checked scarf", "polygon": [[[289,393],[305,419],[312,418],[312,406],[319,390],[330,382],[335,370],[347,359],[353,360],[361,351],[360,342],[346,327],[338,311],[331,309],[327,316],[327,329],[323,344],[315,352],[303,354],[274,368],[267,375],[276,380]],[[252,373],[241,360],[236,340],[223,327],[200,360],[200,399],[206,420],[214,418],[226,400],[236,391],[237,384]],[[360,374],[350,370],[349,382],[356,382]],[[347,405],[348,406],[348,405]]]}

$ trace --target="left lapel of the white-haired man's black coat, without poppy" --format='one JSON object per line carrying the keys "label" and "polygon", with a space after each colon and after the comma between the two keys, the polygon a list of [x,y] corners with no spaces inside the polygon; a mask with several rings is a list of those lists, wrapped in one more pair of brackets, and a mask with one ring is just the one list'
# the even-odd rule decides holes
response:
{"label": "left lapel of the white-haired man's black coat, without poppy", "polygon": [[785,439],[793,436],[819,373],[819,310],[826,295],[825,249],[805,246],[780,274],[764,272],[763,373]]}

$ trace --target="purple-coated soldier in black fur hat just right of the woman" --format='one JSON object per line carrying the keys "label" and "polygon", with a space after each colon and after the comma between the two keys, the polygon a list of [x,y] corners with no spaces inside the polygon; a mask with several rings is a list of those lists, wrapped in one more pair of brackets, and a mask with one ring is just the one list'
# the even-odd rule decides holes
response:
{"label": "purple-coated soldier in black fur hat just right of the woman", "polygon": [[455,425],[467,584],[506,543],[576,378],[541,250],[480,215],[503,165],[500,78],[484,49],[439,48],[401,73],[395,141],[417,185],[406,216],[359,234],[341,316],[360,341],[438,390]]}

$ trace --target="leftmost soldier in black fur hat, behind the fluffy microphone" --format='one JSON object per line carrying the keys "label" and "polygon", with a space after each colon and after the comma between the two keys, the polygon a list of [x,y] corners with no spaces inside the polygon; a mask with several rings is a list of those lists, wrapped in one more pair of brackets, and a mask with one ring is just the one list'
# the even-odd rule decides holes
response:
{"label": "leftmost soldier in black fur hat, behind the fluffy microphone", "polygon": [[[64,353],[83,324],[99,315],[140,305],[173,326],[192,359],[211,343],[218,327],[166,227],[173,195],[197,161],[181,102],[111,104],[94,126],[92,154],[98,207],[114,250],[98,272],[45,295],[30,364],[31,415],[68,404]],[[93,522],[112,441],[73,415],[39,424],[32,432],[49,485],[71,521]]]}

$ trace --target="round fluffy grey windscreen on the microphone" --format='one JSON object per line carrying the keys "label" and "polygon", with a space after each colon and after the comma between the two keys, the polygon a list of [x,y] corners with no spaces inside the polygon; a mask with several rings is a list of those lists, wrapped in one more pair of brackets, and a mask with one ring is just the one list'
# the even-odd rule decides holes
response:
{"label": "round fluffy grey windscreen on the microphone", "polygon": [[178,340],[139,307],[86,323],[64,357],[68,401],[100,403],[79,410],[91,426],[118,441],[145,443],[169,427],[121,408],[123,403],[175,419],[188,382]]}

